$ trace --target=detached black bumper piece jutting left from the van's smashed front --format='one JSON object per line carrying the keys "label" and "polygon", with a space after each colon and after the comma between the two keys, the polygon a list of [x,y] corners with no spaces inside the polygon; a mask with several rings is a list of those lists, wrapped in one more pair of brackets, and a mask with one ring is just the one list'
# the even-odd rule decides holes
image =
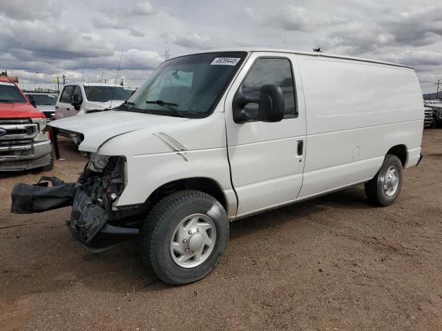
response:
{"label": "detached black bumper piece jutting left from the van's smashed front", "polygon": [[77,183],[64,183],[57,177],[41,177],[35,185],[16,183],[11,192],[11,212],[31,214],[67,207],[73,204],[76,190]]}

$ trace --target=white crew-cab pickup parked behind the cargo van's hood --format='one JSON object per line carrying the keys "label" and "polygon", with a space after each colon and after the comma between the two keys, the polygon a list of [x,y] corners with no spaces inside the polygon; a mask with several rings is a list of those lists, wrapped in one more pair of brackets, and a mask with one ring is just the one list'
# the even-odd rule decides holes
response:
{"label": "white crew-cab pickup parked behind the cargo van's hood", "polygon": [[121,105],[133,94],[127,86],[108,83],[69,83],[55,106],[55,119],[108,110]]}

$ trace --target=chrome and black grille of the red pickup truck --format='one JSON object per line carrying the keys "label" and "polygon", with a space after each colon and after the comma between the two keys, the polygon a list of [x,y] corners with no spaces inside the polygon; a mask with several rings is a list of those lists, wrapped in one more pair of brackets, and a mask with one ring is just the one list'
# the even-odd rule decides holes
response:
{"label": "chrome and black grille of the red pickup truck", "polygon": [[0,161],[31,156],[38,133],[37,123],[30,119],[0,119]]}

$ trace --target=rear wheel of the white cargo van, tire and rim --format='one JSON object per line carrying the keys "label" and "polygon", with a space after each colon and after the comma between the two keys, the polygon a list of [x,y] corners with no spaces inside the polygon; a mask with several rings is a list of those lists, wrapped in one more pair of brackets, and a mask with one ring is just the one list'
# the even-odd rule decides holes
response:
{"label": "rear wheel of the white cargo van, tire and rim", "polygon": [[387,154],[376,176],[365,183],[365,194],[375,205],[387,206],[401,193],[403,170],[396,155]]}

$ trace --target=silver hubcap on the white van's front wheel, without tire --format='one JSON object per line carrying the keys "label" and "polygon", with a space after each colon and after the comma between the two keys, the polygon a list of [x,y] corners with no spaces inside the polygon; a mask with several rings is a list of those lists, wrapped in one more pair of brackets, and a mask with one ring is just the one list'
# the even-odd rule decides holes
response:
{"label": "silver hubcap on the white van's front wheel, without tire", "polygon": [[195,268],[211,254],[216,241],[212,219],[204,214],[192,214],[173,231],[171,256],[182,268]]}

